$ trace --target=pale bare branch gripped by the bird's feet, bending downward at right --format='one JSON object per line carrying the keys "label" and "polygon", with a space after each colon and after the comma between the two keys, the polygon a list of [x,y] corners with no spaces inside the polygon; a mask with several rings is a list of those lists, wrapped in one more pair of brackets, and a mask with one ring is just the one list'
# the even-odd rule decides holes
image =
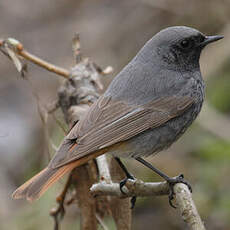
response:
{"label": "pale bare branch gripped by the bird's feet, bending downward at right", "polygon": [[[167,182],[145,183],[141,180],[128,180],[123,188],[125,194],[121,193],[119,183],[97,183],[94,184],[90,191],[94,196],[117,196],[126,197],[145,197],[145,196],[161,196],[169,194],[169,186]],[[191,230],[205,230],[203,222],[196,209],[192,195],[187,185],[178,183],[174,186],[177,208],[182,219],[188,224]]]}

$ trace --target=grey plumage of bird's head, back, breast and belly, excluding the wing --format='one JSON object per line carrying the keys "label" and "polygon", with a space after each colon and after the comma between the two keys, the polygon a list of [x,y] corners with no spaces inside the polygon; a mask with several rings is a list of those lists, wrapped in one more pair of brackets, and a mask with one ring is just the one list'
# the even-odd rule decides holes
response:
{"label": "grey plumage of bird's head, back, breast and belly, excluding the wing", "polygon": [[183,115],[128,140],[133,146],[132,152],[124,154],[118,150],[113,154],[120,157],[156,154],[175,142],[195,120],[204,100],[204,81],[199,65],[203,47],[183,53],[177,45],[185,38],[199,42],[202,37],[202,33],[188,27],[165,29],[148,41],[113,80],[105,96],[130,104],[143,105],[173,95],[189,96],[195,101]]}

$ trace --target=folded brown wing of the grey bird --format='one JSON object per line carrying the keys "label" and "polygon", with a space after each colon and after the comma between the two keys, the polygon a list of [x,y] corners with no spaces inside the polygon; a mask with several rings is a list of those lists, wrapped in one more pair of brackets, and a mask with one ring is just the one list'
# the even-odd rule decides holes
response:
{"label": "folded brown wing of the grey bird", "polygon": [[50,165],[54,168],[63,166],[147,129],[163,125],[182,114],[193,103],[191,97],[172,96],[135,106],[102,96],[66,136]]}

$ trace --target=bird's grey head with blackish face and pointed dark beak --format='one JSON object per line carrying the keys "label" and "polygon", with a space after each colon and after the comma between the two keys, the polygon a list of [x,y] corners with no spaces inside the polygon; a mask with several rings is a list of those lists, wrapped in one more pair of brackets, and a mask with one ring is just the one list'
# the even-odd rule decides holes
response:
{"label": "bird's grey head with blackish face and pointed dark beak", "polygon": [[222,36],[205,36],[198,30],[178,26],[160,31],[154,38],[157,53],[164,61],[165,67],[181,71],[199,68],[202,49]]}

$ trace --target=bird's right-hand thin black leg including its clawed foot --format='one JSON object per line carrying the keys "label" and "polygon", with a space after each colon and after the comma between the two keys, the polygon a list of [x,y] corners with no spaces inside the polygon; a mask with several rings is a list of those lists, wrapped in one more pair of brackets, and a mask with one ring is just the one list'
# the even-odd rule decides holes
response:
{"label": "bird's right-hand thin black leg including its clawed foot", "polygon": [[185,181],[183,174],[180,174],[179,176],[172,178],[172,177],[167,176],[163,172],[161,172],[159,169],[155,168],[153,165],[151,165],[149,162],[145,161],[143,158],[136,157],[135,159],[137,161],[139,161],[140,163],[142,163],[143,165],[145,165],[146,167],[148,167],[149,169],[153,170],[155,173],[157,173],[159,176],[161,176],[162,178],[164,178],[168,182],[168,184],[169,184],[169,204],[173,208],[176,208],[172,203],[172,200],[174,198],[173,196],[175,194],[174,190],[173,190],[173,187],[175,184],[177,184],[177,183],[186,184],[188,186],[190,192],[192,192],[192,187],[187,181]]}

